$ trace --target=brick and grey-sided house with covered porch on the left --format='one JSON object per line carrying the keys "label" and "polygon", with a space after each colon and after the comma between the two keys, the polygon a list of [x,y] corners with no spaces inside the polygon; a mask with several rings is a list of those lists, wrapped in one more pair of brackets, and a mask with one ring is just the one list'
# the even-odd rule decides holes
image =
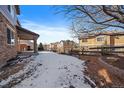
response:
{"label": "brick and grey-sided house with covered porch on the left", "polygon": [[34,50],[37,52],[38,34],[20,26],[17,15],[19,6],[0,5],[0,67],[17,55],[19,40],[33,40]]}

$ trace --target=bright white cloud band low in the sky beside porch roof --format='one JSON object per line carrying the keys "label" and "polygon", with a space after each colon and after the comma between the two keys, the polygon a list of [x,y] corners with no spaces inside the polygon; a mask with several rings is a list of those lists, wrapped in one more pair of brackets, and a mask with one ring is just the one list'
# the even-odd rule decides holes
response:
{"label": "bright white cloud band low in the sky beside porch roof", "polygon": [[51,27],[28,20],[23,20],[22,26],[40,35],[38,43],[51,43],[71,39],[69,30],[66,27]]}

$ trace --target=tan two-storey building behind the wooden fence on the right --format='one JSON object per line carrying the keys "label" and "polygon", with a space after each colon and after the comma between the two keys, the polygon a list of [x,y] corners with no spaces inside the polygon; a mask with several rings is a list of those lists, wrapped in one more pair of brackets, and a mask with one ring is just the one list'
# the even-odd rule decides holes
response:
{"label": "tan two-storey building behind the wooden fence on the right", "polygon": [[116,33],[98,33],[79,38],[80,48],[90,50],[89,48],[101,46],[124,46],[124,32]]}

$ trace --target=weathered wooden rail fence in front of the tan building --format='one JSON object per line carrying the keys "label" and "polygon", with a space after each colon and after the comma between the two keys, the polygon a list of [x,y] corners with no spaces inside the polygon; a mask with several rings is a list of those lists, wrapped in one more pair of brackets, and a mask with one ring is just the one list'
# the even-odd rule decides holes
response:
{"label": "weathered wooden rail fence in front of the tan building", "polygon": [[[120,49],[120,50],[119,50]],[[83,54],[124,54],[124,46],[102,46],[102,47],[94,47],[86,50],[71,50],[70,54],[83,55]]]}

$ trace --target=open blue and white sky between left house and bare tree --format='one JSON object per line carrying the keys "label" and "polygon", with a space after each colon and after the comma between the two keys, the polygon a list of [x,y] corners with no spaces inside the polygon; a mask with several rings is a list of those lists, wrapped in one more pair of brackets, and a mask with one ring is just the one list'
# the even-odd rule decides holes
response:
{"label": "open blue and white sky between left house and bare tree", "polygon": [[51,43],[71,39],[69,20],[62,14],[55,14],[53,6],[20,6],[18,16],[21,25],[40,34],[38,43]]}

